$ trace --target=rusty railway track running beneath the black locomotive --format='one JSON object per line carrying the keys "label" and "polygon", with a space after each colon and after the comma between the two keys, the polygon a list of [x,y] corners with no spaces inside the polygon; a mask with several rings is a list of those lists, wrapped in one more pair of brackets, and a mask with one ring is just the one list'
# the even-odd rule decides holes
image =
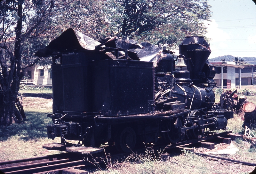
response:
{"label": "rusty railway track running beneath the black locomotive", "polygon": [[[212,140],[217,137],[225,137],[231,134],[232,131],[222,132],[222,133],[213,133],[209,132],[209,135],[197,140],[186,140],[176,144],[171,144],[165,148],[165,146],[148,146],[149,149],[168,149],[176,148],[177,146],[194,144],[198,142],[202,142],[205,140]],[[138,149],[135,153],[143,153],[145,152],[145,148]],[[93,163],[102,163],[102,159],[106,158],[105,154],[111,154],[111,160],[116,161],[117,159],[125,159],[129,153],[121,153],[116,154],[115,147],[106,147],[105,153],[97,153],[92,155],[88,154],[76,154],[76,153],[61,153],[56,155],[48,155],[42,157],[28,158],[28,159],[20,159],[20,160],[12,160],[0,162],[0,171],[5,174],[30,174],[30,173],[48,173],[53,171],[60,171],[68,168],[82,168],[85,169],[89,165],[91,166]],[[86,159],[86,160],[84,160]],[[97,161],[96,161],[97,160]]]}

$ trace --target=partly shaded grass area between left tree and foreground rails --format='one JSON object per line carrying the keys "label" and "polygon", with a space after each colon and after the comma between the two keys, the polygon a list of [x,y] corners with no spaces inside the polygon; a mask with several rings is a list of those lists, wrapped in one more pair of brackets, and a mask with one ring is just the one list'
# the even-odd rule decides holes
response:
{"label": "partly shaded grass area between left tree and foreground rails", "polygon": [[43,144],[60,142],[60,137],[47,138],[46,125],[52,119],[46,117],[51,110],[25,108],[27,119],[22,124],[0,126],[0,161],[31,158],[60,153],[42,148]]}

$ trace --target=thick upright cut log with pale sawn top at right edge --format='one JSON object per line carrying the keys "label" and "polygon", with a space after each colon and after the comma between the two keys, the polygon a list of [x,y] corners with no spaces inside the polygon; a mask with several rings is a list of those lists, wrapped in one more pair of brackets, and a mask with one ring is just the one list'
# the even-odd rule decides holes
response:
{"label": "thick upright cut log with pale sawn top at right edge", "polygon": [[242,109],[244,110],[244,125],[247,127],[255,127],[256,123],[256,107],[255,104],[252,102],[244,103],[242,106]]}

